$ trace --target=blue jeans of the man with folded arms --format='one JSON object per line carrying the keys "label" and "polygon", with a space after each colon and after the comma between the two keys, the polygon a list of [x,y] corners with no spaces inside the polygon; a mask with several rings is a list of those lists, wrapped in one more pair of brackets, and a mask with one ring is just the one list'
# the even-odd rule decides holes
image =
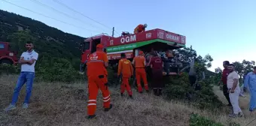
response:
{"label": "blue jeans of the man with folded arms", "polygon": [[14,95],[13,99],[11,101],[12,105],[15,105],[18,101],[20,89],[23,87],[23,85],[26,83],[26,98],[24,103],[29,104],[29,99],[31,96],[32,92],[32,85],[33,85],[33,80],[35,78],[35,73],[34,72],[21,72],[20,77],[17,81],[17,85],[14,89]]}

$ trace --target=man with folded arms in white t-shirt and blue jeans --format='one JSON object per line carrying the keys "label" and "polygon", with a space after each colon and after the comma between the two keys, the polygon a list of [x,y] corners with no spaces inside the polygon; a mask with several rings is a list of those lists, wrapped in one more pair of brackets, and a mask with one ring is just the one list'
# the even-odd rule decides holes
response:
{"label": "man with folded arms in white t-shirt and blue jeans", "polygon": [[23,102],[23,109],[29,107],[29,99],[32,92],[32,85],[35,78],[35,62],[38,59],[38,53],[33,49],[33,43],[26,43],[26,52],[20,56],[19,64],[21,65],[20,77],[17,81],[17,86],[14,89],[14,95],[11,104],[5,108],[5,111],[16,109],[16,103],[19,97],[20,89],[26,83],[26,98]]}

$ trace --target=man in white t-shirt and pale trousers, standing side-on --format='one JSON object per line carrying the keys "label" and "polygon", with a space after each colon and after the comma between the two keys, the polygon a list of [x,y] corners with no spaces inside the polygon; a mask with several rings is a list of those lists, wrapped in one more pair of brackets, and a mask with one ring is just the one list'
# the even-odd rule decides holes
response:
{"label": "man in white t-shirt and pale trousers, standing side-on", "polygon": [[227,89],[230,93],[230,102],[233,107],[233,114],[230,114],[230,117],[242,117],[242,110],[239,107],[239,94],[240,94],[240,87],[239,87],[239,75],[235,71],[235,66],[230,64],[228,66],[230,70],[230,74],[227,76]]}

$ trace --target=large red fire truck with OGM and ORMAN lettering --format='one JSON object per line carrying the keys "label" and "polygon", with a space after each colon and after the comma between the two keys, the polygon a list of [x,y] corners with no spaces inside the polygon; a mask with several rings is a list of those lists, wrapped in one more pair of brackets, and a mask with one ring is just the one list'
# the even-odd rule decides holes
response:
{"label": "large red fire truck with OGM and ORMAN lettering", "polygon": [[[93,37],[88,37],[81,42],[81,72],[86,70],[86,62],[90,53],[96,51],[96,45],[102,43],[107,52],[109,65],[112,68],[117,68],[120,53],[124,52],[126,58],[133,60],[133,57],[138,55],[139,50],[145,52],[147,62],[150,52],[154,50],[162,58],[166,58],[166,52],[172,52],[174,49],[179,49],[185,46],[186,37],[180,34],[175,34],[159,28],[144,31],[138,34],[126,34],[120,37],[111,37],[107,34],[99,34]],[[177,55],[178,57],[178,55]],[[171,68],[170,74],[178,74],[178,68],[182,68],[178,58],[174,56],[167,60]],[[174,70],[174,71],[172,71]],[[169,74],[169,75],[170,75]]]}

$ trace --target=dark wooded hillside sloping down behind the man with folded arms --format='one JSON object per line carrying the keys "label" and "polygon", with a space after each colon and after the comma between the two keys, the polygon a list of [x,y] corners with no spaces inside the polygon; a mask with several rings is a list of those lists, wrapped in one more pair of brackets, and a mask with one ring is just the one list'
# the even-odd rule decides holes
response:
{"label": "dark wooded hillside sloping down behind the man with folded arms", "polygon": [[0,10],[0,19],[0,41],[11,42],[19,54],[24,51],[26,40],[32,40],[40,58],[68,58],[79,64],[81,52],[78,46],[84,37],[65,33],[37,20],[4,10]]}

